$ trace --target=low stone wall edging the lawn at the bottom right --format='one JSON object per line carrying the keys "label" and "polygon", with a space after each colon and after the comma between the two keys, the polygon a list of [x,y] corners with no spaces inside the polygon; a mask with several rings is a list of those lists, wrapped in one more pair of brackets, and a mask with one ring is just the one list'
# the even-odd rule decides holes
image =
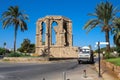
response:
{"label": "low stone wall edging the lawn at the bottom right", "polygon": [[120,66],[116,66],[116,65],[114,65],[114,64],[112,64],[110,62],[107,62],[105,60],[102,60],[101,64],[105,65],[107,68],[109,68],[120,79]]}

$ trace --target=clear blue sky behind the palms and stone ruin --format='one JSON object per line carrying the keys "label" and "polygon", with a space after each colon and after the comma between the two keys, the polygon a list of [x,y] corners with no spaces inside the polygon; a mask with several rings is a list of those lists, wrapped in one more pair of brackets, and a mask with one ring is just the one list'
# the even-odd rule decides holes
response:
{"label": "clear blue sky behind the palms and stone ruin", "polygon": [[[105,41],[104,33],[98,27],[86,34],[83,26],[92,18],[87,14],[93,13],[96,5],[101,1],[106,0],[0,0],[0,17],[9,6],[15,5],[29,15],[28,30],[25,32],[18,30],[17,48],[20,47],[25,38],[30,39],[31,43],[35,43],[35,23],[39,18],[47,15],[61,15],[72,20],[73,46],[92,45],[93,49],[95,49],[95,42]],[[120,0],[108,1],[113,3],[114,6],[120,6]],[[110,36],[110,42],[113,45],[112,35],[110,34]],[[0,22],[0,47],[3,47],[3,43],[6,42],[7,48],[13,48],[13,41],[13,26],[9,26],[4,30]]]}

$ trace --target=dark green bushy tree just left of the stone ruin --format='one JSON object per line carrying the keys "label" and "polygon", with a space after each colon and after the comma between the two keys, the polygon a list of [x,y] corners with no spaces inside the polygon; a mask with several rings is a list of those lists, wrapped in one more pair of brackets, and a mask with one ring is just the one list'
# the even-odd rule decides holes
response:
{"label": "dark green bushy tree just left of the stone ruin", "polygon": [[18,51],[23,52],[23,53],[34,53],[35,44],[31,44],[29,39],[24,39]]}

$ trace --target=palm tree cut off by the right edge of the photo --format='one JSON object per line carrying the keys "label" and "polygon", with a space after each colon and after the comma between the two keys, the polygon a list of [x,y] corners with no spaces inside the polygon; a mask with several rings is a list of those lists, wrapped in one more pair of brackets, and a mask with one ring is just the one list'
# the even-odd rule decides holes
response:
{"label": "palm tree cut off by the right edge of the photo", "polygon": [[120,18],[116,18],[114,20],[114,28],[112,30],[112,33],[114,34],[113,40],[116,46],[120,47]]}

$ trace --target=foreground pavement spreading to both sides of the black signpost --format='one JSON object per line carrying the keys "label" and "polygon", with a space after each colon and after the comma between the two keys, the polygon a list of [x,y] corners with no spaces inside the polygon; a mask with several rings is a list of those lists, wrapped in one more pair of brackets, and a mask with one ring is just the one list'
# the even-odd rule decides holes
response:
{"label": "foreground pavement spreading to both sides of the black signpost", "polygon": [[66,79],[63,80],[119,80],[115,74],[101,67],[101,77],[98,76],[98,63],[93,66],[86,68],[86,75],[83,71],[81,74],[80,70],[66,72]]}

